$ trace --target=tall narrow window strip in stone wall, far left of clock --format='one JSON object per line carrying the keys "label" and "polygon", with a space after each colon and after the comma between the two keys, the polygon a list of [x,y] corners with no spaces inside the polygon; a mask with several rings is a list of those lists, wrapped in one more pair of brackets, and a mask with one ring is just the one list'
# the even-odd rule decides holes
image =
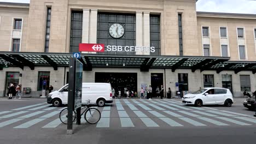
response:
{"label": "tall narrow window strip in stone wall, far left of clock", "polygon": [[48,8],[47,17],[46,17],[44,52],[49,52],[50,25],[51,25],[50,23],[51,23],[51,8]]}

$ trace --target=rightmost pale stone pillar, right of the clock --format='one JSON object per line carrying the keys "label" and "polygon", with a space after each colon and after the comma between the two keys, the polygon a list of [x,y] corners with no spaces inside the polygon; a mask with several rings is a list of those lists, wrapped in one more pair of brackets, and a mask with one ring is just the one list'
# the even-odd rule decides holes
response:
{"label": "rightmost pale stone pillar, right of the clock", "polygon": [[[150,21],[149,12],[143,12],[143,46],[150,46]],[[143,52],[143,55],[150,55],[149,52]]]}

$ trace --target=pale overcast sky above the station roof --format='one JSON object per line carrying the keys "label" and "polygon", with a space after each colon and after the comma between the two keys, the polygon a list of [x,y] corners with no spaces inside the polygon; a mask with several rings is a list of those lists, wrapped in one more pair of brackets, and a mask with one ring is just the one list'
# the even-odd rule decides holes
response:
{"label": "pale overcast sky above the station roof", "polygon": [[[0,2],[30,3],[30,0],[0,0]],[[197,11],[256,14],[256,0],[199,0]]]}

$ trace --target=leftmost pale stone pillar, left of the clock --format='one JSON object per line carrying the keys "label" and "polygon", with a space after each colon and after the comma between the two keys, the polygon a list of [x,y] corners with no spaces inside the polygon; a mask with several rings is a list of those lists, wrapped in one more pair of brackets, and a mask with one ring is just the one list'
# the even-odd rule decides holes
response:
{"label": "leftmost pale stone pillar, left of the clock", "polygon": [[90,9],[83,9],[82,43],[89,43],[89,17],[90,17]]}

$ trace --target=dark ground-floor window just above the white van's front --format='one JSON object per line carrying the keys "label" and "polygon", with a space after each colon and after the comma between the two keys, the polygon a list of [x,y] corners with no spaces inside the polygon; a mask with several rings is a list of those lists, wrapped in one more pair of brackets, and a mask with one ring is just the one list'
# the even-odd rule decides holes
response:
{"label": "dark ground-floor window just above the white van's front", "polygon": [[[46,81],[46,85],[44,85],[44,81]],[[49,89],[50,83],[50,72],[49,71],[39,71],[38,72],[38,83],[37,83],[37,91],[42,91],[42,89]]]}

